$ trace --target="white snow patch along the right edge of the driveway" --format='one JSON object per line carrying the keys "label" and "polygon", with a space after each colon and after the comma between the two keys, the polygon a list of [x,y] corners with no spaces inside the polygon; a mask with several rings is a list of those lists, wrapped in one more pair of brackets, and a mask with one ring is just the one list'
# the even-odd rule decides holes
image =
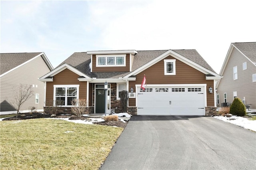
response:
{"label": "white snow patch along the right edge of the driveway", "polygon": [[[253,114],[251,114],[253,115]],[[240,127],[250,129],[256,132],[256,120],[252,121],[249,119],[246,119],[244,117],[239,117],[239,116],[231,116],[231,117],[224,117],[224,116],[214,116],[216,119],[220,119],[222,121],[232,123],[234,125],[238,125]]]}

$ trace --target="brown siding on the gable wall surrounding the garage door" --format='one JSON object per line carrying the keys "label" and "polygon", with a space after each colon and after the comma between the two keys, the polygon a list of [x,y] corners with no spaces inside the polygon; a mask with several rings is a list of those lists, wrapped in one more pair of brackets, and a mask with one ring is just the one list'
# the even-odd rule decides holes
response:
{"label": "brown siding on the gable wall surrounding the garage door", "polygon": [[[165,59],[175,59],[168,56]],[[141,84],[146,75],[147,84],[207,84],[206,91],[209,87],[214,88],[213,80],[206,80],[205,74],[190,67],[182,61],[176,59],[176,75],[164,75],[164,59],[136,75],[136,81],[129,82],[129,89],[135,85]],[[214,106],[214,93],[207,93],[207,106]],[[135,100],[129,99],[129,106],[135,106]]]}

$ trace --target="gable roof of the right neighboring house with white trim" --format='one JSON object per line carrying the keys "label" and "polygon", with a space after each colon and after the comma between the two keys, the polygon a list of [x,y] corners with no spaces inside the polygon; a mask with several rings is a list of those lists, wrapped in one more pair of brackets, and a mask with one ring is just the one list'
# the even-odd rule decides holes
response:
{"label": "gable roof of the right neighboring house with white trim", "polygon": [[231,43],[222,68],[220,69],[220,75],[223,74],[225,67],[228,63],[228,59],[234,48],[240,51],[240,53],[242,53],[245,58],[247,58],[251,63],[256,66],[256,42]]}

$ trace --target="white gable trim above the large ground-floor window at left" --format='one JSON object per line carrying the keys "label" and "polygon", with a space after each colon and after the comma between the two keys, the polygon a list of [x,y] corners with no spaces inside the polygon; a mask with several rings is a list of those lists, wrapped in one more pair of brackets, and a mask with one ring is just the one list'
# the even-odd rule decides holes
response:
{"label": "white gable trim above the large ground-floor window at left", "polygon": [[50,71],[49,73],[47,73],[46,75],[42,76],[40,79],[45,79],[46,77],[53,77],[54,75],[60,73],[61,71],[63,71],[64,69],[69,69],[70,71],[76,73],[77,75],[83,76],[85,78],[90,79],[90,77],[88,77],[87,75],[85,75],[84,73],[78,71],[78,69],[72,67],[71,65],[68,65],[67,63],[64,63],[62,65],[60,65],[59,67],[57,67],[56,69]]}

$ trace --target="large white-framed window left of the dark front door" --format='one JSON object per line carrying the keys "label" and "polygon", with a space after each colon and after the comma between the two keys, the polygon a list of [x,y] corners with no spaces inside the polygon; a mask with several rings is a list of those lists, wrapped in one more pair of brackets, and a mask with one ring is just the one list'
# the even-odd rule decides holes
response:
{"label": "large white-framed window left of the dark front door", "polygon": [[71,101],[78,99],[79,85],[54,85],[54,105],[72,106]]}

